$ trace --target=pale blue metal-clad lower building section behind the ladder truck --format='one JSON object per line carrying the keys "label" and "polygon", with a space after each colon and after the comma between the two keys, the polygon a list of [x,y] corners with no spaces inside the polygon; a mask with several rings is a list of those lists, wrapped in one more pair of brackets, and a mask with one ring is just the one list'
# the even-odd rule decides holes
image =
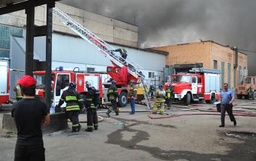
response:
{"label": "pale blue metal-clad lower building section behind the ladder truck", "polygon": [[[23,33],[22,37],[11,36],[10,38],[10,68],[12,69],[25,70],[25,30]],[[128,53],[127,58],[133,59],[144,68],[141,71],[146,76],[146,84],[154,82],[156,76],[162,77],[166,52],[110,44],[116,49],[124,47]],[[34,38],[34,60],[45,61],[45,37]],[[109,59],[82,38],[60,32],[53,33],[53,69],[62,66],[64,70],[73,70],[74,67],[78,67],[80,70],[106,71],[109,65],[112,65]],[[10,72],[10,89],[23,75],[22,71]],[[159,84],[159,81],[155,83]],[[10,97],[14,97],[13,91],[10,91]]]}

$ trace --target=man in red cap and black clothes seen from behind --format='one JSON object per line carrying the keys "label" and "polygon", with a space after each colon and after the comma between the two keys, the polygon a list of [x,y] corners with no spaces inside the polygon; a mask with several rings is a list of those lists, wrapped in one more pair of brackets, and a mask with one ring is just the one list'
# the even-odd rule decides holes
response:
{"label": "man in red cap and black clothes seen from behind", "polygon": [[18,80],[23,99],[13,104],[11,116],[18,130],[14,160],[45,160],[41,124],[50,123],[46,104],[35,98],[36,80],[25,75]]}

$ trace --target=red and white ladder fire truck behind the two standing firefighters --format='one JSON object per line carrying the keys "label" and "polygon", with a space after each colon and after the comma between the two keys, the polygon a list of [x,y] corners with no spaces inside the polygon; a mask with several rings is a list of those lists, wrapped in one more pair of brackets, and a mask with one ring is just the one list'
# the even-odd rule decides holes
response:
{"label": "red and white ladder fire truck behind the two standing firefighters", "polygon": [[[60,67],[62,68],[62,67]],[[77,68],[78,69],[78,68]],[[85,97],[86,93],[86,81],[92,82],[92,85],[100,91],[101,103],[109,103],[107,100],[107,89],[110,87],[110,82],[105,82],[103,79],[106,79],[106,75],[108,74],[112,77],[115,77],[117,81],[118,87],[118,103],[121,107],[127,105],[127,81],[122,82],[118,81],[117,74],[121,70],[120,67],[107,67],[106,72],[93,72],[93,71],[63,71],[63,70],[53,70],[51,72],[51,80],[52,80],[52,91],[53,91],[53,106],[58,105],[60,97],[63,91],[68,89],[68,85],[70,82],[76,82],[77,91],[82,94],[82,97]],[[34,71],[34,77],[37,81],[36,86],[36,95],[38,97],[44,97],[45,94],[45,71]],[[129,79],[130,80],[130,79]],[[65,107],[65,104],[62,105]]]}

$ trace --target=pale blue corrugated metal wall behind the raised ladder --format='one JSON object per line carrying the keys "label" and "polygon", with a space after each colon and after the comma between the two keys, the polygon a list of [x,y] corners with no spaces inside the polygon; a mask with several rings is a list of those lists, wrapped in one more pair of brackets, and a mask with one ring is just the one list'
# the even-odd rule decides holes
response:
{"label": "pale blue corrugated metal wall behind the raised ladder", "polygon": [[[120,48],[121,46],[112,45]],[[146,70],[163,71],[165,55],[125,47],[127,58],[132,59]],[[107,58],[82,38],[53,34],[53,61],[77,62],[89,65],[112,65]]]}

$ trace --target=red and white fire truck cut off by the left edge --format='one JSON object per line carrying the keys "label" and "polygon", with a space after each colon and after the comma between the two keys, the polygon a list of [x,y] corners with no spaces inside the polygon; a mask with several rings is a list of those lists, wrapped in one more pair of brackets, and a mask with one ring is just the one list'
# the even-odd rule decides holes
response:
{"label": "red and white fire truck cut off by the left edge", "polygon": [[0,58],[0,105],[9,100],[9,62],[8,59]]}

